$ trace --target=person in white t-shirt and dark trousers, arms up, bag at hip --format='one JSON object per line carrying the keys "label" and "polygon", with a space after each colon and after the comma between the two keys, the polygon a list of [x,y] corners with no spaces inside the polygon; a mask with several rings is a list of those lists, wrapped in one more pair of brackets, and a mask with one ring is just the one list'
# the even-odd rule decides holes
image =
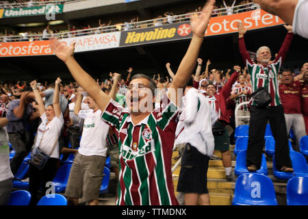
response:
{"label": "person in white t-shirt and dark trousers, arms up, bag at hip", "polygon": [[40,96],[40,92],[36,88],[36,81],[31,81],[30,86],[34,91],[34,96],[38,103],[38,112],[42,123],[38,127],[36,133],[36,141],[34,143],[33,153],[38,150],[49,155],[47,163],[42,170],[39,170],[34,164],[29,166],[29,192],[31,193],[30,205],[36,205],[38,203],[38,190],[42,184],[43,196],[50,188],[48,182],[53,181],[55,173],[57,171],[57,162],[59,160],[59,142],[61,129],[64,125],[63,114],[60,109],[60,86],[61,79],[57,77],[55,81],[55,92],[53,94],[53,104],[45,108]]}

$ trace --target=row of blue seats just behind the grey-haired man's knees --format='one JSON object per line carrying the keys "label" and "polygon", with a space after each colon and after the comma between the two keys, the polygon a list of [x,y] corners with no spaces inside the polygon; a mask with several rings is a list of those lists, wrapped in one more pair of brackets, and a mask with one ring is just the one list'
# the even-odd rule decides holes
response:
{"label": "row of blue seats just behind the grey-haired man's knees", "polygon": [[[235,140],[235,148],[234,153],[238,155],[240,151],[247,150],[248,146],[248,137],[240,137]],[[292,144],[289,140],[290,151],[294,151],[292,148]],[[265,152],[266,155],[272,157],[275,153],[275,140],[274,137],[268,136],[265,137]],[[300,138],[300,153],[308,156],[308,136],[303,136]]]}

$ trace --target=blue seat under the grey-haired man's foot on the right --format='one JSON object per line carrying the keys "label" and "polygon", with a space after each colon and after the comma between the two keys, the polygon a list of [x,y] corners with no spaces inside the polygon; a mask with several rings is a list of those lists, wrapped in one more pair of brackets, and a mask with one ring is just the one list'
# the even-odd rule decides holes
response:
{"label": "blue seat under the grey-haired man's foot on the right", "polygon": [[278,171],[276,168],[276,161],[273,157],[272,162],[272,170],[274,171],[274,176],[278,179],[291,179],[292,177],[305,177],[308,176],[308,170],[307,170],[307,162],[301,153],[298,153],[296,151],[290,151],[290,159],[292,162],[292,167],[294,169],[294,172],[281,172]]}

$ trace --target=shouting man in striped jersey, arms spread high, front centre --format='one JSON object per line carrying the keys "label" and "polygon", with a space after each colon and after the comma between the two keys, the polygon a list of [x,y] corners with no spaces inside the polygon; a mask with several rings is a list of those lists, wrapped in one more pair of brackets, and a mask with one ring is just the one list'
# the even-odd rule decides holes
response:
{"label": "shouting man in striped jersey, arms spread high, front centre", "polygon": [[[75,80],[92,96],[102,110],[102,118],[113,127],[120,147],[120,179],[116,205],[178,205],[172,185],[171,156],[182,92],[192,77],[214,0],[207,1],[200,16],[191,21],[192,40],[168,92],[156,110],[155,81],[134,75],[127,92],[127,107],[110,99],[73,57],[75,43],[51,40],[50,47]],[[179,94],[178,94],[179,93]],[[144,106],[144,107],[142,107]]]}

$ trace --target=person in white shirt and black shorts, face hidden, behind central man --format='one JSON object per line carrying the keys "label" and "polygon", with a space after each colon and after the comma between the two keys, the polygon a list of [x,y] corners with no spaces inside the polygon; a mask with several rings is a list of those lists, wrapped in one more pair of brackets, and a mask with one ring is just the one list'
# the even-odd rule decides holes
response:
{"label": "person in white shirt and black shorts, face hidden, behind central man", "polygon": [[[211,123],[218,118],[212,116],[205,96],[188,81],[183,97],[183,112],[176,131],[176,144],[186,143],[177,191],[185,193],[185,205],[209,205],[207,190],[207,168],[209,157],[214,152],[214,136]],[[215,118],[216,117],[216,118]]]}

